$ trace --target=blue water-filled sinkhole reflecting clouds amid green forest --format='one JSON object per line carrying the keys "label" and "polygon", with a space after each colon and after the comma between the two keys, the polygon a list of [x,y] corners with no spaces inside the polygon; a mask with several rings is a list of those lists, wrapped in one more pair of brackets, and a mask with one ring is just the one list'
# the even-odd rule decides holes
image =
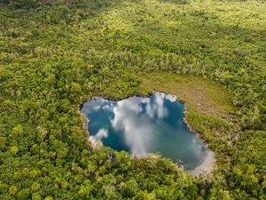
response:
{"label": "blue water-filled sinkhole reflecting clouds amid green forest", "polygon": [[113,101],[95,97],[82,105],[90,140],[131,155],[159,153],[182,161],[192,171],[205,162],[208,149],[184,123],[184,103],[154,92],[150,97]]}

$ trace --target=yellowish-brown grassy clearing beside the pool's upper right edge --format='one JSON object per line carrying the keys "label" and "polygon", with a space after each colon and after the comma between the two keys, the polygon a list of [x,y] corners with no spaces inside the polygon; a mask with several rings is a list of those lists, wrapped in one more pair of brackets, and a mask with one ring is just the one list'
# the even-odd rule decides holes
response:
{"label": "yellowish-brown grassy clearing beside the pool's upper right edge", "polygon": [[175,94],[186,106],[201,114],[228,118],[236,113],[231,93],[223,85],[201,77],[170,73],[141,76],[143,90]]}

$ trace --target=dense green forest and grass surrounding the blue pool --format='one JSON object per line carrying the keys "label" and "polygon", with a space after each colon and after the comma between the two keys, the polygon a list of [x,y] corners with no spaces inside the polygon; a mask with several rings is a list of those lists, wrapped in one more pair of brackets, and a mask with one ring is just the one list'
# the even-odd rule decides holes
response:
{"label": "dense green forest and grass surrounding the blue pool", "polygon": [[[265,10],[259,0],[0,0],[0,199],[265,199]],[[187,103],[216,153],[211,178],[90,147],[82,100],[153,89]]]}

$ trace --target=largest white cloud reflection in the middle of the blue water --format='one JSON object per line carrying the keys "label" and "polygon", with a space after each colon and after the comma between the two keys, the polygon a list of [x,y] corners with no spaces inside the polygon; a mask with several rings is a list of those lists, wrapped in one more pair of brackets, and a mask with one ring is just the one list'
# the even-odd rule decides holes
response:
{"label": "largest white cloud reflection in the middle of the blue water", "polygon": [[[153,102],[149,98],[131,97],[119,101],[117,107],[113,108],[113,128],[124,133],[131,154],[145,156],[148,153],[149,145],[153,143],[157,131],[151,118],[168,116],[168,110],[163,105],[165,98],[165,94],[156,92]],[[138,115],[142,112],[145,115]]]}

